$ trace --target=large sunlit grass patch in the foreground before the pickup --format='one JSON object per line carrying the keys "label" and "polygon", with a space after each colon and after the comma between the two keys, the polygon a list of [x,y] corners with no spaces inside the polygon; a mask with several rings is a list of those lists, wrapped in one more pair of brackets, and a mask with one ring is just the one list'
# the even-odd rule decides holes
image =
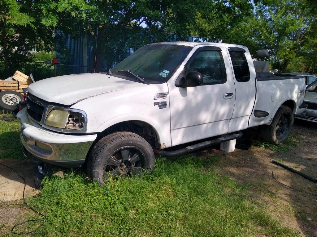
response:
{"label": "large sunlit grass patch in the foreground before the pickup", "polygon": [[[28,200],[45,217],[32,236],[297,236],[248,199],[248,187],[196,157],[156,161],[152,174],[43,181]],[[35,223],[30,223],[32,228]]]}

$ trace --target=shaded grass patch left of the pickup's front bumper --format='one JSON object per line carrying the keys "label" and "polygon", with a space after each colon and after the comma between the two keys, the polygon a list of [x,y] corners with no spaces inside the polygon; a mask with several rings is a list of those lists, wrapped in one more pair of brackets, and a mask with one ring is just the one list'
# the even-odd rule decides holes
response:
{"label": "shaded grass patch left of the pickup's front bumper", "polygon": [[[11,116],[0,112],[0,117]],[[23,159],[20,147],[20,122],[0,120],[0,159]]]}

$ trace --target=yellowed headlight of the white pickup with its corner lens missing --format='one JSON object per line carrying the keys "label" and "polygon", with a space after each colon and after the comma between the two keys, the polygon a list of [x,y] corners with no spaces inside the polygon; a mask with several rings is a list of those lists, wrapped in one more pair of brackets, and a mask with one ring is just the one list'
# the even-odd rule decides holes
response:
{"label": "yellowed headlight of the white pickup with its corner lens missing", "polygon": [[53,109],[45,119],[45,125],[66,130],[82,129],[85,116],[80,112]]}

